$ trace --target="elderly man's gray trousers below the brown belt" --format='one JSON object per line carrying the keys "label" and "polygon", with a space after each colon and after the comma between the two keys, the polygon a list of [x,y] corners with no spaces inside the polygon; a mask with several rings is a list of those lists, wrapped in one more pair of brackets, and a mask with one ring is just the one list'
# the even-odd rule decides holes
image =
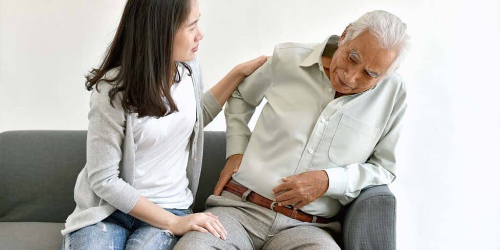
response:
{"label": "elderly man's gray trousers below the brown belt", "polygon": [[339,222],[302,222],[227,191],[210,195],[206,206],[224,225],[227,239],[189,231],[174,249],[340,249],[330,235],[340,232]]}

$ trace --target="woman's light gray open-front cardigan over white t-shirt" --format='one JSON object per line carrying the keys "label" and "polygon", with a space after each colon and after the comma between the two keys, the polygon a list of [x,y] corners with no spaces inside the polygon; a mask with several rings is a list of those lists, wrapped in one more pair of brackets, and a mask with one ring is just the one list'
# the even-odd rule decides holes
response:
{"label": "woman's light gray open-front cardigan over white t-shirt", "polygon": [[[208,90],[203,92],[203,81],[198,60],[188,62],[196,98],[196,122],[190,139],[187,178],[193,196],[198,188],[203,153],[203,127],[217,115],[222,107]],[[110,71],[108,75],[115,73]],[[106,76],[105,76],[106,77]],[[133,187],[135,148],[132,133],[134,115],[121,107],[123,93],[118,92],[109,104],[108,91],[113,85],[99,82],[99,91],[90,94],[86,163],[76,178],[74,201],[76,207],[67,217],[62,235],[95,224],[116,209],[129,213],[140,194]]]}

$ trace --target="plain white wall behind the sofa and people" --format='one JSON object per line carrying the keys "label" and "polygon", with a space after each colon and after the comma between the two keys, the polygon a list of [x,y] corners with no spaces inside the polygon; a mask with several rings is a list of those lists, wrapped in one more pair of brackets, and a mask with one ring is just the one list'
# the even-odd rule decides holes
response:
{"label": "plain white wall behind the sofa and people", "polygon": [[[0,0],[0,132],[86,129],[83,74],[124,0]],[[276,43],[321,42],[373,9],[412,34],[399,145],[399,249],[500,249],[500,6],[489,1],[201,0],[205,88]],[[254,119],[251,124],[254,124]],[[224,130],[219,115],[207,127]]]}

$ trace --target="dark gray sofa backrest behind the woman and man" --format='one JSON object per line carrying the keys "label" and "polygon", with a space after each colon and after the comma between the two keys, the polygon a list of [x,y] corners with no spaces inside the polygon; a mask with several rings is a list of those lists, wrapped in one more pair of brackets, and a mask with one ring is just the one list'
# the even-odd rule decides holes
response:
{"label": "dark gray sofa backrest behind the woman and man", "polygon": [[[204,209],[225,163],[225,132],[204,132],[194,210]],[[76,176],[85,165],[86,131],[0,133],[0,222],[64,222],[75,207]]]}

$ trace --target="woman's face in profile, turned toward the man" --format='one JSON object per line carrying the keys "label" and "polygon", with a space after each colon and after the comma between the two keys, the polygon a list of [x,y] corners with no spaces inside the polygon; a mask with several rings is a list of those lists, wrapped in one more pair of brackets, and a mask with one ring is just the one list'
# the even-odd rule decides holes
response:
{"label": "woman's face in profile, turned toward the man", "polygon": [[181,26],[173,38],[173,60],[189,61],[198,50],[203,34],[198,26],[199,6],[197,0],[191,0],[191,12],[185,24]]}

